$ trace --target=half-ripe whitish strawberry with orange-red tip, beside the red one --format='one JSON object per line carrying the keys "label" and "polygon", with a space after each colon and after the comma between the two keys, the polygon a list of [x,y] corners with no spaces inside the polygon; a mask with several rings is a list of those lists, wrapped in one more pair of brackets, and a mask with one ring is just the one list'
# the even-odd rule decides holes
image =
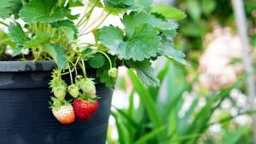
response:
{"label": "half-ripe whitish strawberry with orange-red tip, beside the red one", "polygon": [[71,124],[75,120],[73,106],[68,101],[60,101],[55,97],[51,97],[53,104],[51,104],[52,113],[61,124]]}

